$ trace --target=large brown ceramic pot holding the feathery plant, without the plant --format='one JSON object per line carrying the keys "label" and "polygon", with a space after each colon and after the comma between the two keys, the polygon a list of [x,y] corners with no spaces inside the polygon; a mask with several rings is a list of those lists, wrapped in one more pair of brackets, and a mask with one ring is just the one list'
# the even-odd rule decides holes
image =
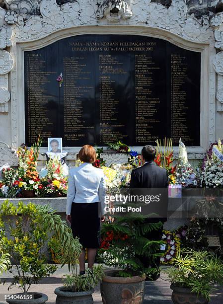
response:
{"label": "large brown ceramic pot holding the feathery plant, without the plant", "polygon": [[119,270],[105,272],[101,282],[103,304],[140,304],[144,302],[146,277],[117,277]]}

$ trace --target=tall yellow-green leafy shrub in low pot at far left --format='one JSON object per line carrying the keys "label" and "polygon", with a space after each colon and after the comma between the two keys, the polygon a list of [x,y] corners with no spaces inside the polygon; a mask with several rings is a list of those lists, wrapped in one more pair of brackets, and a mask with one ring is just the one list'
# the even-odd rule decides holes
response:
{"label": "tall yellow-green leafy shrub in low pot at far left", "polygon": [[48,235],[38,218],[38,209],[31,203],[25,206],[19,202],[16,207],[6,200],[0,206],[0,248],[4,254],[10,254],[8,271],[13,275],[8,289],[16,286],[22,291],[9,297],[7,303],[21,303],[23,300],[25,303],[41,304],[48,300],[44,294],[28,292],[32,284],[38,284],[57,269],[55,265],[46,263],[42,250]]}

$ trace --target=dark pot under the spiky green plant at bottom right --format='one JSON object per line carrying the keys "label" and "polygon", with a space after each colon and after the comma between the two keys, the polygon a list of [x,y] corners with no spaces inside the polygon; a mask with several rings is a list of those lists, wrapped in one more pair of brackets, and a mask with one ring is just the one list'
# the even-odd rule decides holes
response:
{"label": "dark pot under the spiky green plant at bottom right", "polygon": [[204,297],[198,297],[196,294],[191,293],[190,288],[179,287],[178,285],[171,284],[172,301],[174,304],[207,304],[208,300]]}

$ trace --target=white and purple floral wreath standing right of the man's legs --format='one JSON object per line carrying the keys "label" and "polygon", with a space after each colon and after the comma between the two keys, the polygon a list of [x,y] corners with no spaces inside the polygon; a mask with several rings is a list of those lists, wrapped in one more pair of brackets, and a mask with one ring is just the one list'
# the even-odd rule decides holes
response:
{"label": "white and purple floral wreath standing right of the man's legs", "polygon": [[180,238],[175,232],[163,230],[162,240],[166,243],[166,250],[162,257],[160,257],[160,263],[171,264],[172,258],[176,256],[180,249]]}

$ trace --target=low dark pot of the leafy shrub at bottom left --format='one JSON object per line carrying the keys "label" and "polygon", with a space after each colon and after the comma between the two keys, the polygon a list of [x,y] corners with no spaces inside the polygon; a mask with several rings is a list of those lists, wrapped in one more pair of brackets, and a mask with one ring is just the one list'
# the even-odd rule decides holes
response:
{"label": "low dark pot of the leafy shrub at bottom left", "polygon": [[[48,301],[47,295],[41,293],[19,293],[10,296],[12,299],[6,300],[9,304],[43,304]],[[27,299],[28,296],[32,296],[32,299]]]}

